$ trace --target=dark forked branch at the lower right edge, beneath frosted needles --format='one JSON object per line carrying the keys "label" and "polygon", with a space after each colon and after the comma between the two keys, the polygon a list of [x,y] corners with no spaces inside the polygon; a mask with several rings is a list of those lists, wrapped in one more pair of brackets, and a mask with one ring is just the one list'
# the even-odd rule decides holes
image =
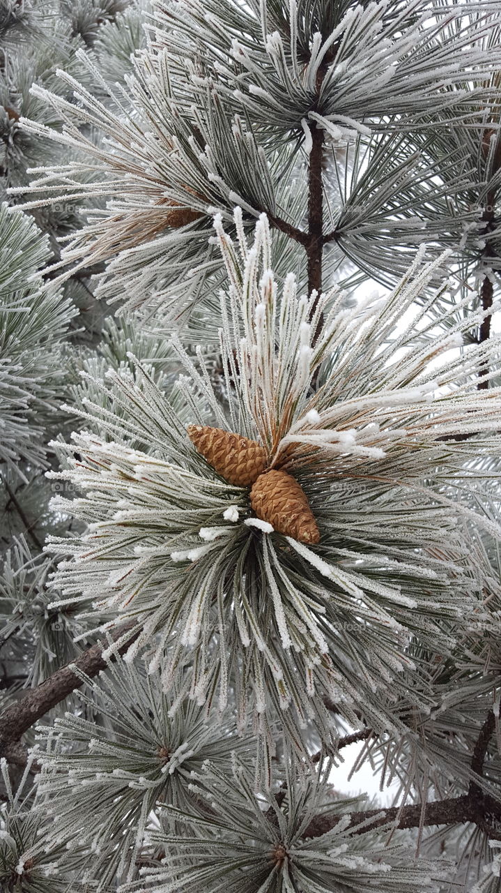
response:
{"label": "dark forked branch at the lower right edge, beneath frosted needles", "polygon": [[[495,718],[489,712],[475,744],[472,754],[472,772],[482,775],[489,740],[495,728]],[[371,819],[374,821],[371,822]],[[341,821],[340,815],[317,815],[305,830],[306,838],[320,837],[332,830]],[[362,828],[357,827],[362,822]],[[421,828],[429,825],[455,825],[472,822],[492,839],[501,840],[501,803],[472,781],[467,794],[461,797],[448,797],[425,805],[391,806],[389,809],[370,809],[352,813],[349,828],[354,834],[364,834],[394,823],[399,829]]]}

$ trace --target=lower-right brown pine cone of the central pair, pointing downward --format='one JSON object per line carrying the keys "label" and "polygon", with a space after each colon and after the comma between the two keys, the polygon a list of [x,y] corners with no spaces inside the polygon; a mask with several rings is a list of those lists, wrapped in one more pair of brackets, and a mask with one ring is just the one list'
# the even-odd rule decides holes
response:
{"label": "lower-right brown pine cone of the central pair, pointing downward", "polygon": [[261,521],[267,521],[285,537],[300,543],[319,541],[306,493],[292,474],[275,469],[261,474],[250,490],[250,505]]}

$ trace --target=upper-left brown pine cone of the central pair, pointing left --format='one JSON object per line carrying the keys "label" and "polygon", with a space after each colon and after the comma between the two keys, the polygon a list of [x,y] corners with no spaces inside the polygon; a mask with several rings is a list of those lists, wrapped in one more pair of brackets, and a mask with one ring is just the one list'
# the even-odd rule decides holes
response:
{"label": "upper-left brown pine cone of the central pair, pointing left", "polygon": [[238,487],[250,487],[267,467],[267,453],[255,440],[222,428],[188,425],[188,436],[221,477]]}

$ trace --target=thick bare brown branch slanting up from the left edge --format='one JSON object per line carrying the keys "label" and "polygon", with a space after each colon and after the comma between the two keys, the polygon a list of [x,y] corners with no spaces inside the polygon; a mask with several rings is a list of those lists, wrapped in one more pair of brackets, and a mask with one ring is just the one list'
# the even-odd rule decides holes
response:
{"label": "thick bare brown branch slanting up from the left edge", "polygon": [[[136,627],[136,621],[124,623],[112,636],[112,641],[117,641],[128,630]],[[119,647],[119,655],[123,655],[131,642],[136,638],[132,635],[127,642]],[[72,691],[79,689],[83,682],[73,671],[76,667],[87,676],[93,678],[102,670],[106,670],[108,663],[103,659],[103,644],[97,642],[80,655],[77,660],[67,663],[66,666],[56,670],[52,676],[44,680],[36,689],[31,689],[15,704],[9,705],[4,714],[0,716],[0,756],[9,759],[9,755],[18,753],[12,747],[21,741],[22,735],[29,728],[52,710],[55,705],[68,697]]]}

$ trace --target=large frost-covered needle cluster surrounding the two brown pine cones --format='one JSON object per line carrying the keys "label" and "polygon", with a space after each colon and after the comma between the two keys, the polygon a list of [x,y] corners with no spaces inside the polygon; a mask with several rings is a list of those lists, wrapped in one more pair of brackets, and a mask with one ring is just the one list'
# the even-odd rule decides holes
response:
{"label": "large frost-covered needle cluster surrounding the two brown pine cones", "polygon": [[[235,227],[242,233],[239,211]],[[308,721],[332,744],[325,697],[349,722],[363,711],[374,728],[401,730],[392,700],[431,705],[421,673],[413,696],[409,642],[454,647],[484,585],[472,544],[501,532],[464,480],[469,461],[488,462],[501,446],[492,433],[498,390],[476,387],[498,346],[461,347],[475,321],[466,307],[448,325],[448,309],[426,320],[416,305],[443,257],[418,256],[389,296],[347,309],[337,288],[308,298],[293,275],[275,283],[265,216],[251,242],[228,238],[220,218],[215,228],[229,282],[220,294],[223,400],[201,348],[191,356],[177,339],[172,347],[218,427],[258,440],[270,466],[300,480],[320,544],[250,527],[248,488],[209,467],[138,364],[136,382],[109,373],[120,414],[89,399],[77,413],[102,437],[84,429],[66,447],[53,443],[67,467],[51,476],[71,481],[81,494],[71,510],[88,523],[83,536],[49,547],[72,555],[54,577],[59,604],[112,611],[109,627],[133,619],[125,659],[145,652],[165,691],[181,673],[190,697],[217,698],[223,709],[228,690],[242,689],[241,722],[250,705],[270,750],[277,721],[293,722],[296,746]],[[456,441],[464,431],[474,438]]]}

